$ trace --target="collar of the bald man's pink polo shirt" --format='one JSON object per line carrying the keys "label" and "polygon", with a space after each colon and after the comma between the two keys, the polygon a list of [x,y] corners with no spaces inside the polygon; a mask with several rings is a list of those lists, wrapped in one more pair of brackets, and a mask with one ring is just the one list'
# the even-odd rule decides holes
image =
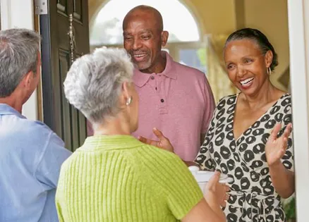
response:
{"label": "collar of the bald man's pink polo shirt", "polygon": [[[174,60],[171,58],[171,56],[166,51],[161,51],[162,54],[166,57],[166,66],[162,73],[155,73],[157,75],[165,75],[167,78],[171,78],[176,80],[176,70],[174,67]],[[133,75],[133,82],[138,87],[143,87],[143,85],[148,82],[150,78],[149,73],[142,73],[137,68],[134,69],[134,75]]]}

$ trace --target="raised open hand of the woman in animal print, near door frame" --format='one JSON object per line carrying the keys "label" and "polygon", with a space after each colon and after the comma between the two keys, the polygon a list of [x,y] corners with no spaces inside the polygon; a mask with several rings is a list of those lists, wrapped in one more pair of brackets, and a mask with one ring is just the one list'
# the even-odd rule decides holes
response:
{"label": "raised open hand of the woman in animal print, near door frame", "polygon": [[289,123],[286,125],[286,129],[281,137],[277,138],[277,134],[279,130],[281,130],[281,124],[277,123],[272,130],[272,134],[269,135],[265,146],[265,155],[267,159],[268,166],[272,166],[274,164],[279,164],[281,162],[282,156],[284,156],[286,152],[286,148],[288,147],[289,135],[291,134],[292,124]]}

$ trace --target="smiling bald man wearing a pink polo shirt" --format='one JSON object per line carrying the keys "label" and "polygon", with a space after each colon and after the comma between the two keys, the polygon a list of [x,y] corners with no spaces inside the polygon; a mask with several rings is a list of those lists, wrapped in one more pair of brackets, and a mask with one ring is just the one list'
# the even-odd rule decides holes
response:
{"label": "smiling bald man wearing a pink polo shirt", "polygon": [[135,63],[133,81],[140,96],[139,127],[133,134],[152,140],[157,128],[175,153],[194,161],[214,111],[214,97],[204,73],[173,61],[162,51],[169,32],[150,6],[137,6],[123,20],[123,45]]}

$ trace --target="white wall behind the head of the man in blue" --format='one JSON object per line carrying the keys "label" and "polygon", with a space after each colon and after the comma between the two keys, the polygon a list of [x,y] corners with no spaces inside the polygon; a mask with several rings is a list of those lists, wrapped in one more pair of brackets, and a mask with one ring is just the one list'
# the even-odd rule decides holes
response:
{"label": "white wall behind the head of the man in blue", "polygon": [[[33,0],[0,0],[1,29],[23,27],[34,30]],[[23,106],[23,115],[37,120],[37,91]]]}

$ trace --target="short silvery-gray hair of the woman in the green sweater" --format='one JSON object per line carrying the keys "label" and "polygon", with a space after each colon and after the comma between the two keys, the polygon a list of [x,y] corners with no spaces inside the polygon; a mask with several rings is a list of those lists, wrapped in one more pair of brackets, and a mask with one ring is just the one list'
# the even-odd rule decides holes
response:
{"label": "short silvery-gray hair of the woman in the green sweater", "polygon": [[132,82],[133,63],[125,49],[100,48],[73,62],[64,81],[68,102],[92,123],[119,112],[123,82]]}

